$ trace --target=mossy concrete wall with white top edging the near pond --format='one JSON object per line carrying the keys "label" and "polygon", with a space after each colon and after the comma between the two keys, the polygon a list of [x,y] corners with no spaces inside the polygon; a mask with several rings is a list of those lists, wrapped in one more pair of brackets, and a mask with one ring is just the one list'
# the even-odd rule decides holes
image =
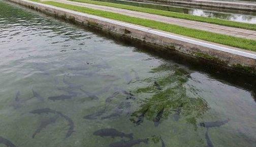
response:
{"label": "mossy concrete wall with white top edging the near pond", "polygon": [[204,58],[235,69],[239,68],[240,71],[256,73],[255,52],[188,38],[186,36],[170,32],[88,15],[36,2],[26,0],[9,1],[34,8],[48,14],[77,21],[94,28],[122,35],[127,38],[140,40],[167,50],[178,51],[188,55]]}

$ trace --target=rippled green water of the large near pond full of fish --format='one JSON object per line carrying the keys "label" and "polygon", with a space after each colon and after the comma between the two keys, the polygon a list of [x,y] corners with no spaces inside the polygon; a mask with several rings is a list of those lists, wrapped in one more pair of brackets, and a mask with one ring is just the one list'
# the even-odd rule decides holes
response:
{"label": "rippled green water of the large near pond full of fish", "polygon": [[255,78],[210,68],[0,1],[0,146],[255,146]]}

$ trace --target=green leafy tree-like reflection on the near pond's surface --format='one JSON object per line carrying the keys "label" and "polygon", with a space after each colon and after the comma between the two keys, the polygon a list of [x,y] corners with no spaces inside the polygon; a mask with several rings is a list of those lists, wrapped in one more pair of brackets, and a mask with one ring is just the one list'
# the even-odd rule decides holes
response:
{"label": "green leafy tree-like reflection on the near pond's surface", "polygon": [[152,84],[135,90],[135,93],[139,95],[150,93],[151,96],[143,100],[138,111],[132,114],[133,119],[131,120],[136,120],[140,114],[148,109],[145,118],[151,121],[164,107],[163,119],[178,115],[176,117],[185,119],[187,123],[197,128],[197,118],[207,111],[208,105],[203,98],[189,97],[186,94],[186,88],[183,84],[188,81],[189,73],[183,68],[167,64],[153,68],[151,72],[160,75],[156,82],[161,86],[161,89],[155,87],[154,80],[145,80],[145,82]]}

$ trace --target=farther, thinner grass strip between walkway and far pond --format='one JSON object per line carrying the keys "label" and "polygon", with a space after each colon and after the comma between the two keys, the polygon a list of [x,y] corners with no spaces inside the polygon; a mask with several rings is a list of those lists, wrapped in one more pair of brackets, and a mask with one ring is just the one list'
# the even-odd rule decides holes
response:
{"label": "farther, thinner grass strip between walkway and far pond", "polygon": [[207,23],[218,24],[218,25],[223,25],[223,26],[231,26],[231,27],[244,28],[244,29],[249,29],[249,30],[256,30],[256,24],[235,22],[235,21],[202,17],[202,16],[194,16],[194,15],[183,14],[183,13],[176,13],[176,12],[170,12],[170,11],[142,8],[142,7],[136,7],[136,6],[128,6],[128,5],[122,5],[122,4],[114,4],[114,3],[107,3],[107,2],[98,2],[98,1],[90,1],[90,0],[69,0],[69,1],[101,5],[101,6],[108,6],[108,7],[132,10],[132,11],[137,11],[137,12],[144,12],[144,13],[149,13],[149,14],[162,15],[162,16],[173,17],[173,18],[207,22]]}

